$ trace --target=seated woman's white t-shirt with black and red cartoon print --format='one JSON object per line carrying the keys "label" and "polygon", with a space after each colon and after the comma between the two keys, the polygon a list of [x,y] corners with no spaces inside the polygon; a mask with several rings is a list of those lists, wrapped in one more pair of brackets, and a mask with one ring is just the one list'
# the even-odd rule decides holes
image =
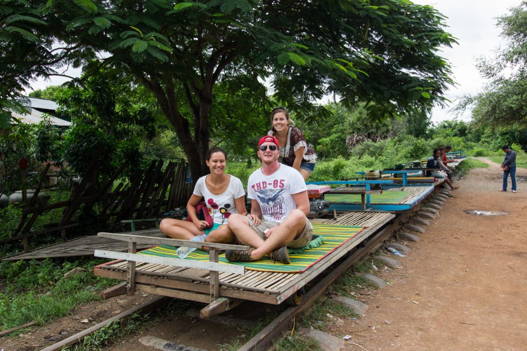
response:
{"label": "seated woman's white t-shirt with black and red cartoon print", "polygon": [[227,190],[220,195],[212,194],[209,191],[209,188],[207,188],[207,184],[205,183],[205,178],[207,178],[207,176],[199,178],[194,187],[193,194],[205,198],[209,214],[212,216],[214,223],[217,224],[227,223],[231,214],[238,213],[234,199],[245,196],[245,190],[243,190],[241,180],[232,175],[230,177]]}

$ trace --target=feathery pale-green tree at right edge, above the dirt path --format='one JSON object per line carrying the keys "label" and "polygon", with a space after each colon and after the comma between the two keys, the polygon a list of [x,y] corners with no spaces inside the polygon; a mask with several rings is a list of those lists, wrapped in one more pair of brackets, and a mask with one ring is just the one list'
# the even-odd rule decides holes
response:
{"label": "feathery pale-green tree at right edge, above the dirt path", "polygon": [[482,93],[464,96],[456,109],[473,107],[474,121],[483,125],[522,127],[527,122],[527,2],[511,8],[497,25],[506,44],[477,63],[488,83]]}

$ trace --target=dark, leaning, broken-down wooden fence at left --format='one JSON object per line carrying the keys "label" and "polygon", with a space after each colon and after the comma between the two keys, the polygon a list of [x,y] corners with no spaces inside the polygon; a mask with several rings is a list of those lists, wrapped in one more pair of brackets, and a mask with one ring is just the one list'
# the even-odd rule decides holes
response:
{"label": "dark, leaning, broken-down wooden fence at left", "polygon": [[[106,181],[102,188],[97,187],[99,178],[99,157],[101,150],[97,151],[80,183],[72,190],[69,199],[48,204],[50,195],[38,199],[41,189],[50,169],[48,163],[41,172],[40,180],[35,188],[35,193],[24,206],[21,220],[13,231],[11,237],[1,239],[0,244],[22,240],[24,252],[29,251],[28,239],[43,234],[61,233],[66,238],[66,229],[94,223],[108,222],[110,218],[116,221],[123,219],[160,218],[169,210],[184,206],[192,194],[192,184],[185,183],[187,164],[181,159],[169,162],[164,168],[162,160],[152,161],[150,166],[136,173],[129,184],[119,183],[111,192],[115,180],[123,172],[122,165]],[[81,210],[83,214],[98,211],[94,218],[73,220],[73,215]],[[47,224],[45,229],[34,232],[32,230],[38,216],[53,209],[63,208],[62,218],[57,223]]]}

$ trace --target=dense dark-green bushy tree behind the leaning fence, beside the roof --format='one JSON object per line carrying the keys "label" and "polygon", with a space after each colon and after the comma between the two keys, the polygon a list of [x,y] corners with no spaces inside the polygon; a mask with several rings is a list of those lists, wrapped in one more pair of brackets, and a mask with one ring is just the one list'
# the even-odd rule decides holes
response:
{"label": "dense dark-green bushy tree behind the leaning fence, beside the roof", "polygon": [[83,174],[101,148],[102,179],[121,164],[126,165],[124,175],[130,179],[145,166],[143,155],[157,132],[152,97],[132,84],[130,77],[109,69],[82,79],[58,92],[59,112],[73,122],[64,137],[63,161],[74,173]]}

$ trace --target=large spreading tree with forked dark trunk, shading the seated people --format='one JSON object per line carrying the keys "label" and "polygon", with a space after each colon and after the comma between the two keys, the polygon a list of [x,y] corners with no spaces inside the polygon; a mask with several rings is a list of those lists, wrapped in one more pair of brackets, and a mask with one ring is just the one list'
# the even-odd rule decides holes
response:
{"label": "large spreading tree with forked dark trunk, shading the seated people", "polygon": [[316,114],[312,102],[331,94],[349,105],[375,102],[380,119],[441,104],[452,83],[437,54],[455,43],[444,18],[407,0],[31,2],[39,5],[74,65],[102,53],[104,65],[154,94],[193,179],[206,171],[218,84],[261,92],[261,104],[252,106],[261,114],[270,110],[267,82],[276,101],[297,114]]}

